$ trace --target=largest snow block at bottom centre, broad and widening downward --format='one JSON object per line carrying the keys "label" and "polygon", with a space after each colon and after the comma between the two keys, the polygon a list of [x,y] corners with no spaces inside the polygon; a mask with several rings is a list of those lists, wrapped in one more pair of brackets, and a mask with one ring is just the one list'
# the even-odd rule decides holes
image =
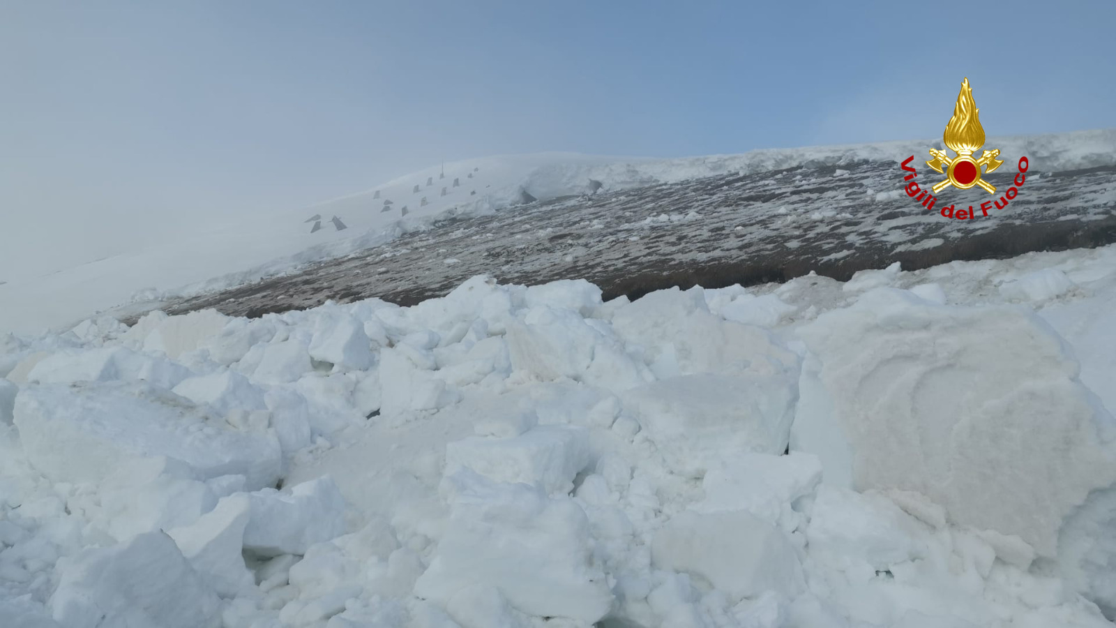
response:
{"label": "largest snow block at bottom centre, broad and widening downward", "polygon": [[608,612],[613,594],[577,503],[468,469],[445,483],[452,493],[446,533],[415,583],[416,596],[444,607],[466,588],[485,584],[531,616],[593,624]]}

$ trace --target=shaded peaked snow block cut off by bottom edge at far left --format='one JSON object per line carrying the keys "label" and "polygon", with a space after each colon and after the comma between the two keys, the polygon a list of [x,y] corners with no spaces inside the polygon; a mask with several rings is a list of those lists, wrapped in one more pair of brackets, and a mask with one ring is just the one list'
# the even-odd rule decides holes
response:
{"label": "shaded peaked snow block cut off by bottom edge at far left", "polygon": [[85,550],[59,561],[58,571],[50,608],[67,628],[221,625],[217,593],[162,532]]}

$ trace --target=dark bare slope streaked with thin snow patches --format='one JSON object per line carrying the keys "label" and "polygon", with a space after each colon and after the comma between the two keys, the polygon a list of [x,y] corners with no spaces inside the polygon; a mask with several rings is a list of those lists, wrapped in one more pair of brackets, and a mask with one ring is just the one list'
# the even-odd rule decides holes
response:
{"label": "dark bare slope streaked with thin snow patches", "polygon": [[[1113,151],[1116,155],[1116,146]],[[859,153],[854,153],[856,160],[834,155],[834,163],[750,174],[732,170],[591,198],[556,198],[468,218],[443,217],[344,259],[148,310],[215,307],[254,316],[327,299],[375,296],[413,304],[442,296],[479,274],[522,284],[585,278],[608,299],[675,285],[786,280],[810,270],[847,279],[856,270],[892,261],[925,268],[952,259],[1116,241],[1116,165],[1060,170],[1103,161],[1083,154],[1089,156],[1072,161],[1031,153],[1035,164],[1028,166],[1024,184],[1001,208],[992,202],[1013,193],[1008,189],[1018,174],[1007,164],[987,177],[1001,194],[946,191],[927,211],[903,191],[906,172],[896,161],[863,161]],[[922,165],[915,181],[936,182],[931,174],[936,173]],[[988,217],[956,220],[939,212],[947,203],[964,209],[981,202],[989,203]]]}

